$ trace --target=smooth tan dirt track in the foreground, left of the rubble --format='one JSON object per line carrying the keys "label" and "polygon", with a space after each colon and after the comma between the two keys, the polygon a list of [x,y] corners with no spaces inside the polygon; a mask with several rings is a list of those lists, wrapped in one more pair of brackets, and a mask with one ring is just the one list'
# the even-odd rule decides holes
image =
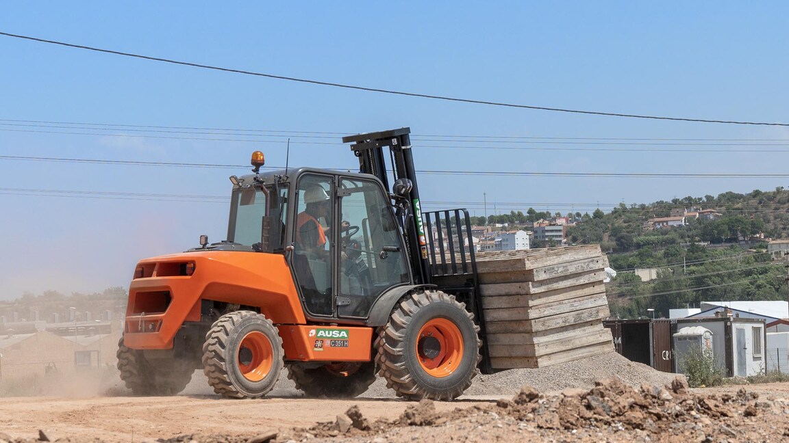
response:
{"label": "smooth tan dirt track in the foreground, left of the rubble", "polygon": [[[462,400],[437,403],[451,411],[475,404]],[[219,396],[168,397],[17,397],[0,400],[0,431],[10,437],[51,437],[140,441],[181,434],[255,435],[264,430],[310,427],[333,422],[354,404],[368,419],[397,419],[409,402],[393,399],[314,400],[294,397],[224,400]],[[52,439],[54,439],[52,438]]]}

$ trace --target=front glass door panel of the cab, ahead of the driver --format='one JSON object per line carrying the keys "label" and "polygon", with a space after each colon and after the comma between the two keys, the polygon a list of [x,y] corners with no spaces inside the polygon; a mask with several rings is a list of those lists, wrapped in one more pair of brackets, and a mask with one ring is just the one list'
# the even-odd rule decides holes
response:
{"label": "front glass door panel of the cab, ahead of the driver", "polygon": [[387,289],[411,281],[406,248],[388,195],[373,180],[339,177],[338,317],[367,318]]}

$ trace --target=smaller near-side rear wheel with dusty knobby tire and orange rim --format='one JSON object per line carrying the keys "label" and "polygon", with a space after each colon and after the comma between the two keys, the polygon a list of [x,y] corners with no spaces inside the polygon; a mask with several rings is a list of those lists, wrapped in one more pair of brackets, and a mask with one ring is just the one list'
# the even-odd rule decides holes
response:
{"label": "smaller near-side rear wheel with dusty knobby tire and orange rim", "polygon": [[203,371],[215,393],[258,398],[277,382],[284,354],[282,338],[265,315],[230,312],[222,315],[205,336]]}

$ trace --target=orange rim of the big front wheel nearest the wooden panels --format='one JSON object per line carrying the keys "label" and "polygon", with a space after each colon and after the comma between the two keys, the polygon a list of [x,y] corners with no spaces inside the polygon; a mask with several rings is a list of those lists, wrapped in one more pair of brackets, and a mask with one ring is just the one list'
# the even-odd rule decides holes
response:
{"label": "orange rim of the big front wheel nearest the wooden panels", "polygon": [[422,369],[433,377],[454,373],[463,359],[463,335],[447,318],[432,318],[419,329],[417,358]]}

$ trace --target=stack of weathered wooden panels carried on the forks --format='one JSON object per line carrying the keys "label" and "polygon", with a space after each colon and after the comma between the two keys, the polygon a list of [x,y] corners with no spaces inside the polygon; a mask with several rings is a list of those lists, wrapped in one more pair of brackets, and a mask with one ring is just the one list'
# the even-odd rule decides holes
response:
{"label": "stack of weathered wooden panels carried on the forks", "polygon": [[596,245],[477,255],[494,369],[546,367],[614,350]]}

